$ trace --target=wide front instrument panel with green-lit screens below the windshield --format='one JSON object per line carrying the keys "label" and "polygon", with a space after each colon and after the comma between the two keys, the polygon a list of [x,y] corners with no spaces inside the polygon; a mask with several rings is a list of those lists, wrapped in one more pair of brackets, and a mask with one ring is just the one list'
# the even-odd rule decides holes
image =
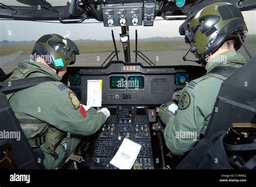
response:
{"label": "wide front instrument panel with green-lit screens below the windshield", "polygon": [[102,105],[161,105],[205,74],[200,66],[143,66],[111,61],[106,67],[68,67],[66,85],[87,103],[87,81],[102,80]]}

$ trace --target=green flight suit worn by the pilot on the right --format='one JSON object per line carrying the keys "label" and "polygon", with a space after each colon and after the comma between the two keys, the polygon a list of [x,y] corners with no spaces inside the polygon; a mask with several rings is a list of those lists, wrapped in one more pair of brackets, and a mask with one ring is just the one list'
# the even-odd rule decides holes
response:
{"label": "green flight suit worn by the pilot on the right", "polygon": [[[221,60],[221,58],[224,59],[223,57],[226,57],[226,63]],[[207,73],[216,66],[240,68],[246,63],[241,54],[237,54],[235,50],[219,54],[215,59],[207,63]],[[191,81],[182,89],[178,110],[173,116],[159,111],[161,120],[166,124],[164,130],[166,146],[174,155],[183,155],[191,150],[199,140],[200,134],[204,135],[222,82],[222,79],[206,74]],[[197,138],[185,136],[186,133],[196,135]]]}

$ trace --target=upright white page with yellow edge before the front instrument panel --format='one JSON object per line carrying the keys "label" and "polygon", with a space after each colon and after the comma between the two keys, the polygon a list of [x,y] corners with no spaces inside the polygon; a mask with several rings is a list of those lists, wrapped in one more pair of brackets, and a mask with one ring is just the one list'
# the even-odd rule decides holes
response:
{"label": "upright white page with yellow edge before the front instrument panel", "polygon": [[87,106],[102,106],[102,80],[87,80]]}

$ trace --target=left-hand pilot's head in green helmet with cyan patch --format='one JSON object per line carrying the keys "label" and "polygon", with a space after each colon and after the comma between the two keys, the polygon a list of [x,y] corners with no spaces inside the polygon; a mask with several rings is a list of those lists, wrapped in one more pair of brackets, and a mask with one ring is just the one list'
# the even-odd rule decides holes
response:
{"label": "left-hand pilot's head in green helmet with cyan patch", "polygon": [[75,64],[77,54],[79,50],[76,44],[58,34],[42,36],[32,50],[33,59],[47,64],[60,77],[66,73],[66,66]]}

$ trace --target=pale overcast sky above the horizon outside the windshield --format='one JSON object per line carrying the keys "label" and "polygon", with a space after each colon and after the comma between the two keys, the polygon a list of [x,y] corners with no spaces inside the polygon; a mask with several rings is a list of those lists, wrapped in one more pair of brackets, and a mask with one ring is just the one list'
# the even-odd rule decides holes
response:
{"label": "pale overcast sky above the horizon outside the windshield", "polygon": [[[256,10],[242,12],[248,27],[249,34],[256,34]],[[157,19],[160,19],[157,17]],[[87,22],[97,22],[96,20],[85,20]],[[150,37],[177,37],[180,36],[178,29],[184,21],[157,20],[152,27],[130,26],[131,39],[134,39],[135,30],[138,30],[139,38]],[[116,39],[119,37],[120,27],[104,27],[103,23],[89,24],[60,24],[42,23],[16,20],[0,20],[0,41],[2,40],[37,40],[48,33],[57,33],[62,36],[70,35],[72,40],[78,39],[111,39],[111,30],[114,30]]]}

